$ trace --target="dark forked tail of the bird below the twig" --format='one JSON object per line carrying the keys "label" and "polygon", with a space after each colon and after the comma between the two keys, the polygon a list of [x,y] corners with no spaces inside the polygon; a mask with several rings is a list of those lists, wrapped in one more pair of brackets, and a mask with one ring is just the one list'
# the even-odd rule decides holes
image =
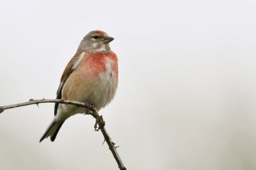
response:
{"label": "dark forked tail of the bird below the twig", "polygon": [[58,134],[58,131],[60,130],[61,126],[65,120],[56,122],[55,119],[50,123],[48,126],[46,132],[44,132],[43,136],[41,137],[39,142],[42,142],[45,138],[50,136],[50,140],[53,142]]}

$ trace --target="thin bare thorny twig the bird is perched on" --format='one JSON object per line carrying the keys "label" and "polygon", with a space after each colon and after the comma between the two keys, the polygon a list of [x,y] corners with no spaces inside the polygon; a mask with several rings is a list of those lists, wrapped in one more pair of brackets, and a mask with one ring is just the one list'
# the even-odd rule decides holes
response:
{"label": "thin bare thorny twig the bird is perched on", "polygon": [[[64,101],[63,99],[40,99],[40,100],[33,100],[30,99],[28,102],[24,103],[16,103],[13,105],[8,105],[8,106],[0,106],[0,113],[4,112],[7,109],[10,108],[18,108],[21,106],[28,106],[28,105],[33,105],[36,104],[38,106],[39,103],[65,103],[65,104],[73,104],[75,106],[82,106],[82,107],[87,107],[86,103],[82,103],[79,101]],[[99,113],[97,113],[96,109],[91,107],[90,109],[90,115],[92,115],[96,121],[97,125],[99,126],[100,131],[102,132],[102,135],[105,138],[105,141],[107,142],[107,145],[110,147],[110,151],[112,152],[114,159],[116,160],[119,169],[121,170],[126,170],[124,164],[122,163],[122,159],[119,157],[119,154],[117,153],[117,147],[114,146],[114,142],[112,142],[110,135],[108,135],[107,130],[105,128],[105,122],[103,121],[103,118]]]}

